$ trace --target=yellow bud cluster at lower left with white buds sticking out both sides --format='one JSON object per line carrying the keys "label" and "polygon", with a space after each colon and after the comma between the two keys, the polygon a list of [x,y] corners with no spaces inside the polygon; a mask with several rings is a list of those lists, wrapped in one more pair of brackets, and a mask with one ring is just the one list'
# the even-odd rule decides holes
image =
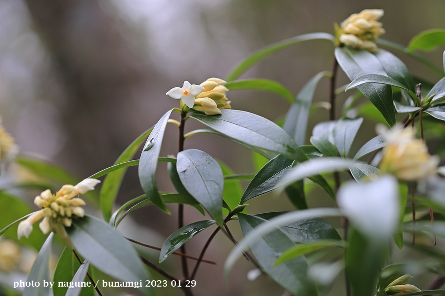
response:
{"label": "yellow bud cluster at lower left with white buds sticking out both sides", "polygon": [[63,185],[62,188],[52,194],[51,190],[46,189],[34,199],[34,204],[42,210],[34,212],[26,220],[19,223],[17,228],[17,236],[28,237],[32,230],[33,224],[43,218],[39,223],[39,227],[43,233],[54,231],[63,233],[63,226],[70,227],[72,223],[72,215],[84,217],[85,211],[81,206],[85,206],[82,198],[74,196],[79,193],[84,194],[89,190],[94,190],[94,186],[100,183],[96,179],[85,179],[78,185]]}

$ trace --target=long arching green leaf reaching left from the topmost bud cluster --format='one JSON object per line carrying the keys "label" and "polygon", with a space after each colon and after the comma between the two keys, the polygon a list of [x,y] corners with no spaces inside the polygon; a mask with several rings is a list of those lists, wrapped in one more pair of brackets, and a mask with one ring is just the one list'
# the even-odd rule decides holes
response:
{"label": "long arching green leaf reaching left from the topmost bud cluster", "polygon": [[267,56],[271,55],[272,53],[275,53],[279,50],[282,50],[284,48],[287,48],[291,45],[303,41],[316,40],[316,39],[330,40],[332,42],[335,40],[335,38],[332,35],[327,33],[311,33],[272,43],[270,45],[267,45],[266,47],[263,47],[253,52],[246,59],[244,59],[242,62],[236,65],[234,69],[230,72],[230,74],[227,75],[225,80],[231,81],[238,78],[241,74],[246,72],[250,67],[258,63],[259,61],[263,60]]}

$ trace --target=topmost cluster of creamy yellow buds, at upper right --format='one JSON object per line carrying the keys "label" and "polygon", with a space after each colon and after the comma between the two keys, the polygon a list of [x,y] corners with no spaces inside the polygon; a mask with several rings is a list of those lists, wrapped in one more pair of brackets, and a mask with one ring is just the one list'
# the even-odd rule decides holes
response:
{"label": "topmost cluster of creamy yellow buds, at upper right", "polygon": [[385,33],[382,23],[377,21],[382,16],[382,9],[365,9],[352,14],[343,21],[337,33],[340,42],[355,48],[376,51],[377,45],[373,41]]}

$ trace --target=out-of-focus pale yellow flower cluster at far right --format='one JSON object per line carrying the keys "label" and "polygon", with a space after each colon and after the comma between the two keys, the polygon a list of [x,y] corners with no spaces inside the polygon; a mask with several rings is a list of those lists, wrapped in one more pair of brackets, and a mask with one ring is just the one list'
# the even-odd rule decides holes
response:
{"label": "out-of-focus pale yellow flower cluster at far right", "polygon": [[376,130],[387,143],[380,162],[382,173],[393,174],[401,181],[424,180],[436,173],[439,157],[428,153],[425,143],[414,138],[412,129],[396,126],[387,130],[377,125]]}

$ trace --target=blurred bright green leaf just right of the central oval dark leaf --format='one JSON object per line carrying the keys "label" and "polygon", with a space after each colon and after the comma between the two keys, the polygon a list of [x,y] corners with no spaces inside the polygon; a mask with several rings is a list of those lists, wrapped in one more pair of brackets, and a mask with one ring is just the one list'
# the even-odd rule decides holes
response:
{"label": "blurred bright green leaf just right of the central oval dark leaf", "polygon": [[243,189],[239,183],[239,180],[245,179],[251,180],[254,175],[240,174],[234,175],[233,171],[221,160],[218,160],[221,166],[224,177],[224,189],[223,189],[223,200],[227,203],[231,210],[233,210],[237,205],[239,205],[241,196],[243,195]]}

